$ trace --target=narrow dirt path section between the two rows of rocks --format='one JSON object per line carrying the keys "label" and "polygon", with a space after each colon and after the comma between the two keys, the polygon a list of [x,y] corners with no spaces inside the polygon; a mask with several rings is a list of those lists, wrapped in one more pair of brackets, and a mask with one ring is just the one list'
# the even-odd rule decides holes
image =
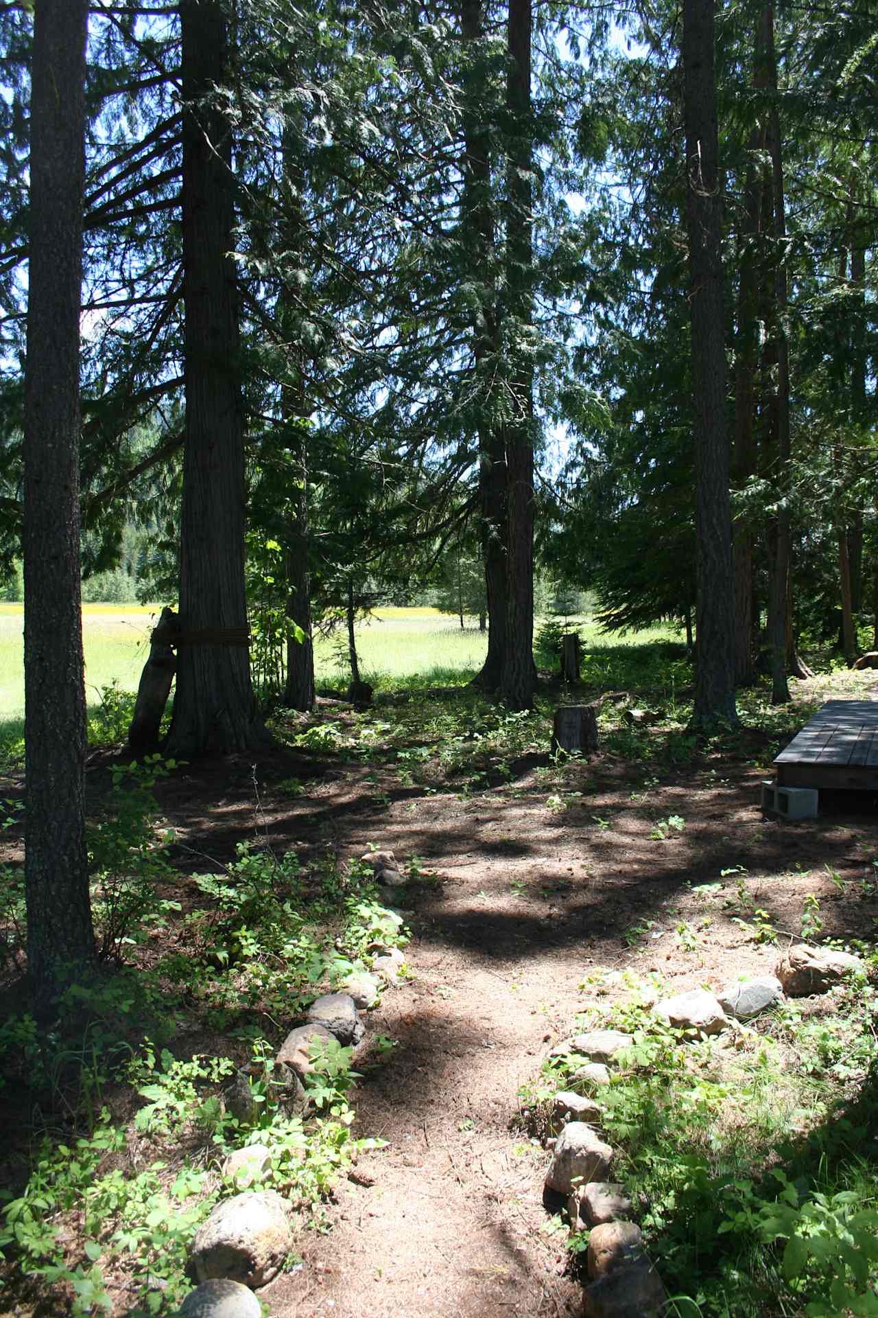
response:
{"label": "narrow dirt path section between the two rows of rocks", "polygon": [[429,934],[411,952],[416,979],[370,1021],[398,1046],[357,1098],[359,1128],[388,1141],[358,1165],[374,1185],[348,1182],[333,1232],[265,1298],[278,1318],[573,1313],[562,1249],[540,1230],[545,1155],[509,1127],[575,1011],[574,958],[524,952],[513,970]]}

